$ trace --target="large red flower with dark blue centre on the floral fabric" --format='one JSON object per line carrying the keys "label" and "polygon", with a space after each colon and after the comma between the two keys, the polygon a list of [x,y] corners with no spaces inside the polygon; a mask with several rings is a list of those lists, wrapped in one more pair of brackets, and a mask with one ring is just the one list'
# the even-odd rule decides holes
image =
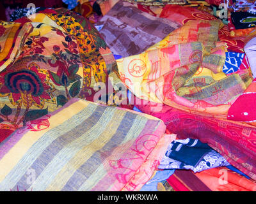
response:
{"label": "large red flower with dark blue centre on the floral fabric", "polygon": [[[49,73],[44,69],[40,69],[35,62],[29,64],[28,69],[14,71],[0,75],[0,97],[8,96],[10,103],[17,106],[17,112],[12,124],[20,124],[28,113],[29,108],[35,105],[37,108],[44,108],[45,102],[56,103],[52,92],[56,89],[50,82]],[[26,110],[22,118],[17,122],[20,115],[20,109],[24,105]],[[9,110],[6,106],[5,110]],[[3,109],[1,110],[3,113]],[[6,111],[5,111],[6,112]],[[8,119],[8,115],[4,114],[4,119]],[[3,117],[3,115],[1,115]]]}

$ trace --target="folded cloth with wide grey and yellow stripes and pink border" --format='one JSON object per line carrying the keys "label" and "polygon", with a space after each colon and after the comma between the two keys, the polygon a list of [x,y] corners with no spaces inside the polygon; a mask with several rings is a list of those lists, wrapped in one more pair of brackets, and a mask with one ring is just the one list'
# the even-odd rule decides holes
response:
{"label": "folded cloth with wide grey and yellow stripes and pink border", "polygon": [[175,139],[165,128],[144,113],[71,99],[0,144],[0,189],[140,189]]}

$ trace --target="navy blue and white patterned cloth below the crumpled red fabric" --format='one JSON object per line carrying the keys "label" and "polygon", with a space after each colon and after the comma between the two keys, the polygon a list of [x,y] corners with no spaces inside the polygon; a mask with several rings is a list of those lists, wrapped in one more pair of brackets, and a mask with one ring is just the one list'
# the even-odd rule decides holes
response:
{"label": "navy blue and white patterned cloth below the crumpled red fabric", "polygon": [[186,169],[196,173],[228,165],[230,164],[227,160],[209,147],[207,143],[187,138],[170,143],[158,169]]}

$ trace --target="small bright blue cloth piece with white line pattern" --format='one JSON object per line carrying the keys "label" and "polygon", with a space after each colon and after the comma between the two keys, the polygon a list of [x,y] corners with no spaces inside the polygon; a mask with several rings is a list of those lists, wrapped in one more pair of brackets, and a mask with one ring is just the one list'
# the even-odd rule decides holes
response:
{"label": "small bright blue cloth piece with white line pattern", "polygon": [[239,69],[239,66],[241,65],[243,59],[244,53],[226,52],[226,61],[222,71],[225,74],[236,72]]}

